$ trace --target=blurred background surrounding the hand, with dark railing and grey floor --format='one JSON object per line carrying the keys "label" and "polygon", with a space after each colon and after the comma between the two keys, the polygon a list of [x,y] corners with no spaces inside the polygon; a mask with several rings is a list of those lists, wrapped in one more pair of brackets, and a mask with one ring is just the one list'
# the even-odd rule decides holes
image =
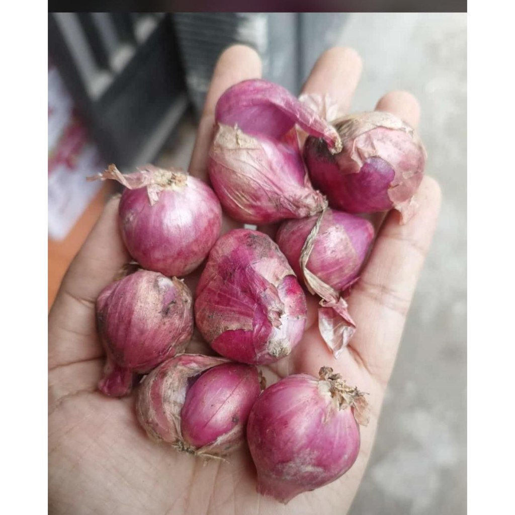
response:
{"label": "blurred background surrounding the hand, with dark railing and grey floor", "polygon": [[216,58],[234,42],[296,94],[323,50],[352,46],[364,60],[352,111],[392,89],[420,101],[442,210],[350,514],[465,513],[465,13],[50,13],[48,305],[112,194],[84,178],[110,162],[187,168]]}

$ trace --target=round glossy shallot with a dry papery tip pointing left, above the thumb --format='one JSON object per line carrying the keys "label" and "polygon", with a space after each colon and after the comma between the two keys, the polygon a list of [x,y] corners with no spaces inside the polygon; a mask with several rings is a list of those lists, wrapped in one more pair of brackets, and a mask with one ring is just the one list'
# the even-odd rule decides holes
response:
{"label": "round glossy shallot with a dry papery tip pointing left, above the thumb", "polygon": [[185,276],[206,258],[221,231],[221,206],[211,188],[178,169],[146,165],[122,175],[114,165],[101,179],[126,186],[119,204],[122,238],[147,270]]}

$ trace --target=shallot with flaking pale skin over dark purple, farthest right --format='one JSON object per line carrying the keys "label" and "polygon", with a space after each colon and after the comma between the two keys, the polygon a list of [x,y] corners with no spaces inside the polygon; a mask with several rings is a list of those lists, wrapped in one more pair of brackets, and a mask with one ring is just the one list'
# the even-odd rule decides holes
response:
{"label": "shallot with flaking pale skin over dark purple, farthest right", "polygon": [[348,213],[396,209],[407,222],[417,209],[426,152],[413,128],[396,116],[373,111],[333,122],[342,142],[333,155],[321,139],[307,138],[304,161],[315,187],[332,208]]}

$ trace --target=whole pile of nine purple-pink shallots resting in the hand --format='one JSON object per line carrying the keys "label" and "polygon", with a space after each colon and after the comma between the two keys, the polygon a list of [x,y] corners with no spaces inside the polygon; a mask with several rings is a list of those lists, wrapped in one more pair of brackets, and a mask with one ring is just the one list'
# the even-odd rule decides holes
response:
{"label": "whole pile of nine purple-pink shallots resting in the hand", "polygon": [[[220,457],[247,442],[258,491],[283,503],[352,467],[367,402],[329,367],[266,389],[263,371],[303,339],[305,290],[319,298],[328,348],[335,358],[345,350],[356,331],[346,299],[374,238],[359,215],[393,208],[408,220],[425,163],[400,119],[330,123],[324,102],[264,80],[227,90],[209,152],[213,189],[151,165],[99,174],[125,186],[119,227],[139,265],[96,302],[100,391],[122,397],[138,385],[141,425],[178,451]],[[276,241],[244,228],[220,235],[222,210],[242,227],[280,222]],[[195,270],[192,294],[184,278]],[[185,353],[195,327],[210,355]]]}

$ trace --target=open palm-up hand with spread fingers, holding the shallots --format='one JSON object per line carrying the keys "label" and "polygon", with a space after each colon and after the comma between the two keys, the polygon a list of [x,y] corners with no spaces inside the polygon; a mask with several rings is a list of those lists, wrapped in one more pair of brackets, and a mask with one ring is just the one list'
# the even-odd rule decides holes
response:
{"label": "open palm-up hand with spread fingers, holding the shallots", "polygon": [[[348,111],[361,74],[361,59],[350,48],[332,48],[315,64],[306,93],[327,93]],[[213,113],[230,85],[261,75],[254,50],[227,49],[217,63],[190,173],[207,176]],[[398,115],[417,127],[419,107],[409,93],[391,92],[376,109]],[[96,171],[96,170],[94,170]],[[363,477],[377,430],[381,404],[397,354],[406,314],[424,256],[431,242],[440,203],[437,183],[425,177],[418,192],[417,215],[399,224],[395,212],[377,218],[376,241],[362,277],[349,298],[357,332],[336,361],[324,345],[310,306],[305,335],[295,350],[270,367],[272,381],[292,373],[318,376],[322,365],[340,372],[350,385],[368,393],[371,420],[361,427],[362,443],[353,467],[335,482],[306,492],[286,506],[256,493],[256,473],[244,446],[227,461],[201,459],[150,441],[136,420],[134,392],[123,399],[96,390],[104,351],[95,330],[94,302],[129,256],[117,228],[118,199],[110,200],[67,271],[49,314],[49,507],[53,514],[109,513],[343,515]],[[235,227],[225,220],[224,230]],[[272,232],[273,228],[265,228]],[[193,286],[195,278],[190,280]],[[417,342],[405,342],[417,345]],[[194,337],[187,352],[207,351]],[[270,383],[270,381],[269,381]]]}

